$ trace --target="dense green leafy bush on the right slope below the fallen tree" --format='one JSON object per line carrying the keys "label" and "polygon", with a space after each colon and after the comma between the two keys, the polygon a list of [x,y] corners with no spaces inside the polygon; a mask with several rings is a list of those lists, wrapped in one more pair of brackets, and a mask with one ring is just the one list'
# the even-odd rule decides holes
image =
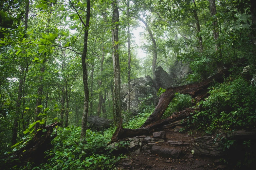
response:
{"label": "dense green leafy bush on the right slope below the fallen tree", "polygon": [[199,104],[203,110],[193,115],[191,123],[205,133],[216,129],[255,128],[255,87],[242,78],[229,78],[210,88],[210,96]]}

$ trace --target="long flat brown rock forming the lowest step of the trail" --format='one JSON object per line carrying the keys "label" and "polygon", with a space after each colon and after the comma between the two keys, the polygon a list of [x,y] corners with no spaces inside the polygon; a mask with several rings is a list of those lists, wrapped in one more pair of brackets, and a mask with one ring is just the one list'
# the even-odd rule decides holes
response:
{"label": "long flat brown rock forming the lowest step of the trail", "polygon": [[178,156],[180,155],[181,153],[181,150],[179,149],[169,149],[169,148],[162,148],[160,146],[152,146],[151,148],[151,152],[153,154],[157,154],[159,156],[162,156],[162,157],[167,157],[167,158],[178,158]]}

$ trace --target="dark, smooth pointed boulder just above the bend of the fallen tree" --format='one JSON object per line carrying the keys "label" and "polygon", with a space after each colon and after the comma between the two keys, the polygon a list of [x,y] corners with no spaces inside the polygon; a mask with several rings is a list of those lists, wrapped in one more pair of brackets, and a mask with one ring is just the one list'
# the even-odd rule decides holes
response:
{"label": "dark, smooth pointed boulder just above the bend of the fallen tree", "polygon": [[169,87],[175,86],[174,79],[166,72],[161,66],[155,68],[155,85],[158,91],[160,87],[162,89],[167,89]]}

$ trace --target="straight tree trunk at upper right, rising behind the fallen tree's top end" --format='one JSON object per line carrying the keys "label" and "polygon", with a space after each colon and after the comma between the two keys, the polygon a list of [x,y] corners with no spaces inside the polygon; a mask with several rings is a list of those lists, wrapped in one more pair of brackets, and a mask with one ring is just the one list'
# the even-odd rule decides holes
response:
{"label": "straight tree trunk at upper right, rising behind the fallen tree's top end", "polygon": [[[216,3],[215,0],[209,0],[210,3],[210,13],[211,13],[211,17],[215,16],[217,14],[217,10],[216,10]],[[219,31],[218,31],[218,21],[217,19],[215,19],[213,21],[213,37],[215,39],[215,41],[217,41],[217,39],[219,38]],[[215,50],[216,52],[219,53],[219,60],[216,62],[217,64],[217,71],[218,73],[223,70],[223,63],[222,63],[222,52],[221,52],[221,46],[219,42],[216,42],[215,45]]]}

